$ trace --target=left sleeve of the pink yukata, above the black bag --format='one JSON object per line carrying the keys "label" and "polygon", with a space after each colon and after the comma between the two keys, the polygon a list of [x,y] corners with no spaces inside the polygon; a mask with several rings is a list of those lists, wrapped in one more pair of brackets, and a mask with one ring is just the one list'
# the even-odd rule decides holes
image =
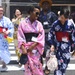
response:
{"label": "left sleeve of the pink yukata, above the black bag", "polygon": [[19,24],[17,38],[18,38],[18,47],[21,48],[21,45],[22,44],[25,45],[26,43],[22,23]]}

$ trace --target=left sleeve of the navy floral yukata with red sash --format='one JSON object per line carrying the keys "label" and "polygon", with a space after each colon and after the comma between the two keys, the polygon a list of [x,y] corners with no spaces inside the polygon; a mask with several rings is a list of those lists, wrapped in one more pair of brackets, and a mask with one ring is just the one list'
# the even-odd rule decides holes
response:
{"label": "left sleeve of the navy floral yukata with red sash", "polygon": [[56,46],[54,24],[48,33],[48,44],[49,44],[49,46],[51,46],[51,45]]}

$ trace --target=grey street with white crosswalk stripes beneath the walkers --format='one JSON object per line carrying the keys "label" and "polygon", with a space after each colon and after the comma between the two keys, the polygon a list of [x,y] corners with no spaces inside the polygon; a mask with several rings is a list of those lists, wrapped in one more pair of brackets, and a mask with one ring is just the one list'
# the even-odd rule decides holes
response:
{"label": "grey street with white crosswalk stripes beneath the walkers", "polygon": [[[0,63],[0,75],[24,75],[24,66],[19,67],[17,63],[17,56],[15,54],[15,48],[14,43],[9,44],[9,50],[11,53],[11,61],[7,65],[7,68],[2,69],[1,63]],[[43,68],[45,67],[45,64]],[[51,72],[50,75],[53,75],[53,72]],[[68,65],[66,75],[75,75],[75,58],[71,58],[71,62]]]}

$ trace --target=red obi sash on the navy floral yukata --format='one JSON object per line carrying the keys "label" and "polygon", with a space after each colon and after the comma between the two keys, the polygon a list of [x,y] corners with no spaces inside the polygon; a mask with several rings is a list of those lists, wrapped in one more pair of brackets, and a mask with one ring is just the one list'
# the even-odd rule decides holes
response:
{"label": "red obi sash on the navy floral yukata", "polygon": [[55,34],[56,34],[56,39],[58,42],[61,42],[61,41],[69,42],[70,41],[69,32],[57,31],[55,32]]}

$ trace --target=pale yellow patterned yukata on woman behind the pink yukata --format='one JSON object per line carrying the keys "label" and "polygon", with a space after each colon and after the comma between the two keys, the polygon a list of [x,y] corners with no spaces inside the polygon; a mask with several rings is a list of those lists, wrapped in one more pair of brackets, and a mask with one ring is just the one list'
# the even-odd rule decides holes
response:
{"label": "pale yellow patterned yukata on woman behind the pink yukata", "polygon": [[12,19],[12,23],[14,24],[14,34],[13,34],[13,38],[14,38],[14,45],[15,45],[15,52],[16,52],[16,55],[18,56],[18,61],[20,59],[20,56],[21,56],[21,53],[18,49],[18,40],[17,40],[17,30],[18,30],[18,26],[20,24],[20,22],[24,20],[24,18],[20,18],[20,19],[17,19],[16,18],[13,18]]}

